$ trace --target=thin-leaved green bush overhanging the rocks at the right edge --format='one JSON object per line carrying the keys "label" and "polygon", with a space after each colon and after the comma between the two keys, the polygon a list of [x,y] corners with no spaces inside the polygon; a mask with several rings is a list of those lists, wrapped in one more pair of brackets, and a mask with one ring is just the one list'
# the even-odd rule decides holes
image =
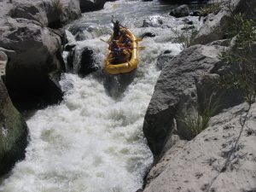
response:
{"label": "thin-leaved green bush overhanging the rocks at the right edge", "polygon": [[252,56],[252,45],[256,41],[255,26],[255,20],[235,15],[228,34],[233,38],[233,46],[224,49],[219,56],[230,70],[219,79],[218,84],[226,89],[244,90],[248,103],[254,102],[256,96],[256,59]]}

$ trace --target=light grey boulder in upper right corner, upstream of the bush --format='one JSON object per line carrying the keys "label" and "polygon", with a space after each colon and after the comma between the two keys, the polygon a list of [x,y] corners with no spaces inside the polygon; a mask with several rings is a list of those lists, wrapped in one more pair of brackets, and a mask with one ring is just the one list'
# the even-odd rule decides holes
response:
{"label": "light grey boulder in upper right corner, upstream of the bush", "polygon": [[[232,13],[230,8],[233,9]],[[224,39],[230,30],[233,15],[242,13],[250,16],[256,8],[256,2],[251,0],[231,0],[224,2],[217,14],[210,14],[195,37],[195,44],[209,44],[212,41]]]}

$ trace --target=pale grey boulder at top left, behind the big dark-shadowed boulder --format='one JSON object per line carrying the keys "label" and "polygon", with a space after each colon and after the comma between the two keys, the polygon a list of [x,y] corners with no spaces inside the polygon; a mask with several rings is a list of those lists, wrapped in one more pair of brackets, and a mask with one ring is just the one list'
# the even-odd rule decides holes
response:
{"label": "pale grey boulder at top left, behind the big dark-shadowed boulder", "polygon": [[79,0],[14,0],[13,18],[36,20],[42,26],[60,28],[81,16]]}

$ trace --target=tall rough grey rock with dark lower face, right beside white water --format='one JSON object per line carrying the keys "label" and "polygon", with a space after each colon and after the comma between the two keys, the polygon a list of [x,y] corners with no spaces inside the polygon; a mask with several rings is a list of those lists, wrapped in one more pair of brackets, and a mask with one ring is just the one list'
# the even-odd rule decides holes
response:
{"label": "tall rough grey rock with dark lower face, right beside white water", "polygon": [[[165,65],[154,88],[145,115],[143,132],[154,155],[159,155],[173,130],[180,97],[195,88],[196,80],[209,73],[218,62],[219,47],[196,45],[183,50]],[[183,132],[179,130],[178,132]],[[188,137],[188,136],[183,136]]]}

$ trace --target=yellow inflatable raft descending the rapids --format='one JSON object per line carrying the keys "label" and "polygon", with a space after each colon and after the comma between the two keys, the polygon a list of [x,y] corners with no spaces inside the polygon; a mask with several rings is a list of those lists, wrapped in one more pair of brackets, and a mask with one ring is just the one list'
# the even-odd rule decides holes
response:
{"label": "yellow inflatable raft descending the rapids", "polygon": [[[132,70],[137,68],[138,65],[138,43],[137,38],[133,35],[133,33],[126,28],[120,29],[125,30],[129,36],[131,37],[131,59],[130,61],[118,64],[112,64],[110,58],[110,52],[108,54],[108,58],[105,60],[105,70],[110,74],[120,74],[120,73],[129,73]],[[111,36],[108,40],[108,43],[112,41],[113,36]]]}

